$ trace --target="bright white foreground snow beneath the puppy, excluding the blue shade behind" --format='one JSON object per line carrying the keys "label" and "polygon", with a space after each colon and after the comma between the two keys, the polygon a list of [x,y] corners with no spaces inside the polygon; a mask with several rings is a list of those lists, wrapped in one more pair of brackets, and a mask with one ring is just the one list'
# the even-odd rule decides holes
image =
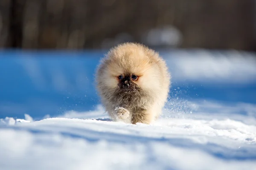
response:
{"label": "bright white foreground snow beneath the puppy, excluding the blue shade behind", "polygon": [[1,119],[0,169],[256,170],[256,105],[180,102],[152,125],[112,122],[101,105]]}

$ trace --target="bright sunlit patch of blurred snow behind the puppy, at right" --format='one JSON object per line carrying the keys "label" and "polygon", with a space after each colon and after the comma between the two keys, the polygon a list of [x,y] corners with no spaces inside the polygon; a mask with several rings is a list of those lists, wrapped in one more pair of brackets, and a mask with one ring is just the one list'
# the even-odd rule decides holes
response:
{"label": "bright sunlit patch of blurred snow behind the puppy, at right", "polygon": [[238,83],[256,81],[256,56],[239,51],[175,51],[163,54],[176,81]]}

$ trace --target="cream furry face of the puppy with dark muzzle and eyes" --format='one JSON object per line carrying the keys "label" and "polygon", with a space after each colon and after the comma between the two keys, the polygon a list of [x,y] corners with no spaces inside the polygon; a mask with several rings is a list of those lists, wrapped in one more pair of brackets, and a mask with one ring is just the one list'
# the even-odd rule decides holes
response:
{"label": "cream furry face of the puppy with dark muzzle and eyes", "polygon": [[[109,54],[102,69],[102,82],[115,91],[154,91],[159,87],[159,68],[144,51],[121,51]],[[103,71],[104,70],[104,71]]]}

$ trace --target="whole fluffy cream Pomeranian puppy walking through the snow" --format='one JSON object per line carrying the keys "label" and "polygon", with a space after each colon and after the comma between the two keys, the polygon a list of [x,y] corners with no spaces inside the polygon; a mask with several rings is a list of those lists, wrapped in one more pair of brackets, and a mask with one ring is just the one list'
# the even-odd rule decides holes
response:
{"label": "whole fluffy cream Pomeranian puppy walking through the snow", "polygon": [[158,53],[137,43],[112,48],[96,71],[97,90],[111,119],[132,124],[158,118],[170,80]]}

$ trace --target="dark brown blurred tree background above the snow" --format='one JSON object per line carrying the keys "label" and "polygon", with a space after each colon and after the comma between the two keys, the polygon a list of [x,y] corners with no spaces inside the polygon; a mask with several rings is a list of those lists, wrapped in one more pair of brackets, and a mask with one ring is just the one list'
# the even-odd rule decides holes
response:
{"label": "dark brown blurred tree background above the snow", "polygon": [[256,0],[0,0],[0,47],[256,51]]}

